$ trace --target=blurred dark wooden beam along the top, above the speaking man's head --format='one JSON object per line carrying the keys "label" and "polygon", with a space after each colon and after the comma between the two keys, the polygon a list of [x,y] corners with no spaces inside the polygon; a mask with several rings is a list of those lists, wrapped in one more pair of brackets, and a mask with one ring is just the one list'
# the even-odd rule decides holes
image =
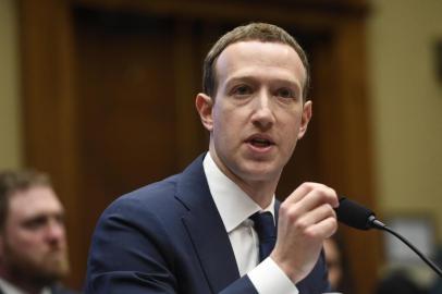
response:
{"label": "blurred dark wooden beam along the top, above the speaking man's head", "polygon": [[333,27],[343,17],[364,17],[367,0],[71,0],[82,7],[116,12],[167,15],[205,22],[251,22],[294,24],[309,29]]}

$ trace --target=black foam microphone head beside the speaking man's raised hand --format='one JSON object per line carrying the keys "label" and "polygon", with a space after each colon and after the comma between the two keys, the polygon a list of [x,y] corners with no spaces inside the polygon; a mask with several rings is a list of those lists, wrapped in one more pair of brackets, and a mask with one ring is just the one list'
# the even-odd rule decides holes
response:
{"label": "black foam microphone head beside the speaking man's raised hand", "polygon": [[371,229],[376,220],[373,211],[345,197],[340,199],[340,206],[334,210],[340,222],[359,230]]}

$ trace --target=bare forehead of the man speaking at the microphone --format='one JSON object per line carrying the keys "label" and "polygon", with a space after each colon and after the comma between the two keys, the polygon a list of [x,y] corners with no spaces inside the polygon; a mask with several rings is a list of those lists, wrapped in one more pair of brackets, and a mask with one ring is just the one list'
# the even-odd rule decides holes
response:
{"label": "bare forehead of the man speaking at the microphone", "polygon": [[306,79],[306,70],[295,49],[280,42],[234,42],[221,52],[216,70],[220,82],[232,75],[266,73],[281,75],[278,77],[293,79],[299,85]]}

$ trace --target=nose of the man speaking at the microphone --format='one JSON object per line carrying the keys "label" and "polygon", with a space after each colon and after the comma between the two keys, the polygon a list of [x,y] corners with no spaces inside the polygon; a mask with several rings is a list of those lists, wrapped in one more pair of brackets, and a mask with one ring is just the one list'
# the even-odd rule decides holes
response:
{"label": "nose of the man speaking at the microphone", "polygon": [[261,131],[271,128],[275,118],[273,113],[272,97],[265,89],[255,97],[251,122]]}

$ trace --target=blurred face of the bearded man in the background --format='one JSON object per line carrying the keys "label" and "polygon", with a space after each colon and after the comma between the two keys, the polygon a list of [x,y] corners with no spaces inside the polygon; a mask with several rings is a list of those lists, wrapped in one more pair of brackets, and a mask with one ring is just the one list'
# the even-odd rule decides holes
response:
{"label": "blurred face of the bearded man in the background", "polygon": [[50,187],[10,197],[0,256],[12,278],[51,283],[69,271],[63,208]]}

